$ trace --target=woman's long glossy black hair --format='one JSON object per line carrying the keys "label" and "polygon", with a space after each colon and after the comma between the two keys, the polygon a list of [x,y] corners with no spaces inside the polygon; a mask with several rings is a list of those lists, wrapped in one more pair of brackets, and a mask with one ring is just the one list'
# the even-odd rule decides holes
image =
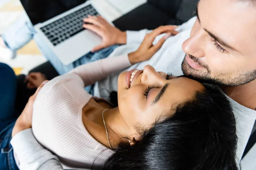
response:
{"label": "woman's long glossy black hair", "polygon": [[105,170],[238,170],[236,120],[226,96],[204,84],[193,101],[142,134],[120,143]]}

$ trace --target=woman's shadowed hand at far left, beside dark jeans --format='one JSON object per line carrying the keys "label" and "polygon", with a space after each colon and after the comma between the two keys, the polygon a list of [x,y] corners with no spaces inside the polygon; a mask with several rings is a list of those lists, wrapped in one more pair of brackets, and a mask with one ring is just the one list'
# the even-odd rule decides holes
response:
{"label": "woman's shadowed hand at far left, beside dark jeans", "polygon": [[40,72],[30,73],[26,79],[25,82],[28,82],[27,88],[38,88],[39,85],[42,84],[47,80],[46,76]]}

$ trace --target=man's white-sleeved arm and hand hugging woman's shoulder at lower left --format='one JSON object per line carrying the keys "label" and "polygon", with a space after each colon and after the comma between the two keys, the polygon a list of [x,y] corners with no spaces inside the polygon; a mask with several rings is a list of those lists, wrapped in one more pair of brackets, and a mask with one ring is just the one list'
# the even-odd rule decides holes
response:
{"label": "man's white-sleeved arm and hand hugging woman's shoulder at lower left", "polygon": [[12,130],[11,144],[20,161],[20,170],[63,170],[58,157],[38,143],[31,129],[34,101],[46,82],[29,98]]}

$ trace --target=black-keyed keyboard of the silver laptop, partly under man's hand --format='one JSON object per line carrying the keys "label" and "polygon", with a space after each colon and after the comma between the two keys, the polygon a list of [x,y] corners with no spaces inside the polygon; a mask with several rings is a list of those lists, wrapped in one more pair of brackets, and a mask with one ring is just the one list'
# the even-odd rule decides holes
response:
{"label": "black-keyed keyboard of the silver laptop, partly under man's hand", "polygon": [[83,18],[98,15],[92,5],[88,5],[67,16],[44,26],[41,29],[54,46],[83,31]]}

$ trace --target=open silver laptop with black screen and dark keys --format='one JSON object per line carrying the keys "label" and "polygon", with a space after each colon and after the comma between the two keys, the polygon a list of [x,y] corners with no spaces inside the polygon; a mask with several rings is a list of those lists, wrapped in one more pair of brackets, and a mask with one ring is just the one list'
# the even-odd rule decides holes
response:
{"label": "open silver laptop with black screen and dark keys", "polygon": [[91,0],[20,0],[35,31],[64,65],[101,44],[102,38],[83,28],[83,18],[101,15]]}

